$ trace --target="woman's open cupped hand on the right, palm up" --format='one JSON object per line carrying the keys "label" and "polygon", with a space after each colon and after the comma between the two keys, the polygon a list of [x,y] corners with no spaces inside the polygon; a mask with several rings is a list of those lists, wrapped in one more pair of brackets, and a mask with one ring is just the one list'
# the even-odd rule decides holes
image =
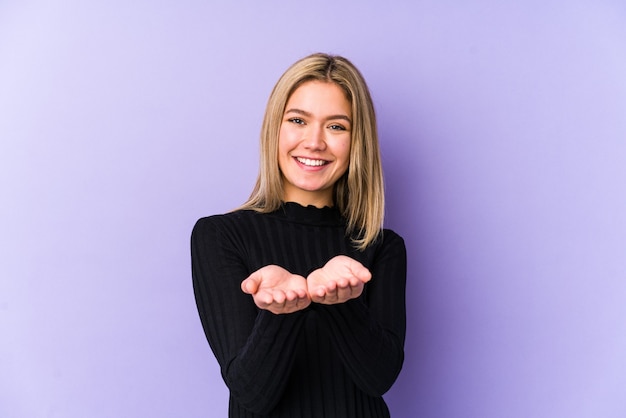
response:
{"label": "woman's open cupped hand on the right, palm up", "polygon": [[332,305],[359,297],[371,278],[372,274],[363,264],[338,255],[309,274],[307,286],[312,302]]}

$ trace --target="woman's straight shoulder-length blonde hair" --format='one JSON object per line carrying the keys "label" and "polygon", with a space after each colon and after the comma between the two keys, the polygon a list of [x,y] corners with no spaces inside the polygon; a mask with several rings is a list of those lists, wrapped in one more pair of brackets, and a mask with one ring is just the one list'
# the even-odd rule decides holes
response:
{"label": "woman's straight shoulder-length blonde hair", "polygon": [[347,172],[335,183],[334,204],[347,220],[354,245],[365,249],[381,233],[385,195],[376,115],[365,79],[346,58],[313,54],[294,63],[270,94],[261,127],[261,162],[252,194],[239,209],[273,212],[282,204],[283,180],[278,167],[278,137],[285,106],[307,81],[335,83],[352,106],[352,138]]}

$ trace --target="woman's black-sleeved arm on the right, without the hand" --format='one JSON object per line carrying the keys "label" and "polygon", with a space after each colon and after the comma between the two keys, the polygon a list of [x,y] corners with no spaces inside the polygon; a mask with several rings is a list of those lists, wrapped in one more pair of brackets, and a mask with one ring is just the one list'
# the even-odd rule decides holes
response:
{"label": "woman's black-sleeved arm on the right, without the hand", "polygon": [[360,297],[315,304],[348,373],[372,396],[383,395],[400,373],[406,333],[406,249],[392,231],[385,231],[383,240]]}

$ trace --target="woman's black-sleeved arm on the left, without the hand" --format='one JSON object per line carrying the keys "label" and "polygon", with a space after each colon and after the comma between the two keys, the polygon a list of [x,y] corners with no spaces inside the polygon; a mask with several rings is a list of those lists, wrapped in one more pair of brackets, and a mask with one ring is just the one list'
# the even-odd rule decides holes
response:
{"label": "woman's black-sleeved arm on the left, without the hand", "polygon": [[250,411],[263,414],[283,393],[302,313],[275,315],[257,309],[251,296],[241,290],[250,267],[225,226],[205,218],[193,229],[196,304],[231,395]]}

